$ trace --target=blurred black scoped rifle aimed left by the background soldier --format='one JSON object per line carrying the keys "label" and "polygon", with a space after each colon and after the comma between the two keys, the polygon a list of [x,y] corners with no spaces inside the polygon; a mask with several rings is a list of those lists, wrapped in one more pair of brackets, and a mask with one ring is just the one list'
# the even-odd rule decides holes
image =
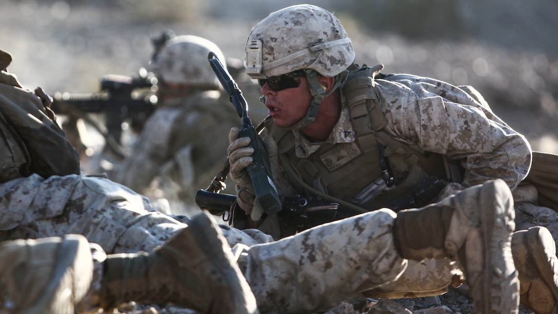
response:
{"label": "blurred black scoped rifle aimed left by the background soldier", "polygon": [[[107,147],[119,158],[122,151],[122,123],[131,122],[132,129],[141,129],[143,123],[155,111],[157,97],[153,94],[157,79],[145,68],[137,77],[106,74],[100,79],[100,91],[95,93],[55,92],[51,109],[69,120],[83,119],[103,135]],[[104,116],[104,125],[90,114]]]}

